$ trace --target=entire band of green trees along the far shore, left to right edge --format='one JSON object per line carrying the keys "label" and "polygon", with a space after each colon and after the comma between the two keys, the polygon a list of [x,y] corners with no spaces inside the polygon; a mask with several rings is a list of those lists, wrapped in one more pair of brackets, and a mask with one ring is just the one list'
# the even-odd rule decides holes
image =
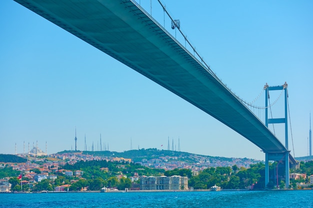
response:
{"label": "entire band of green trees along the far shore, left to right edge", "polygon": [[[103,187],[117,188],[124,190],[125,188],[137,187],[139,180],[131,182],[130,177],[134,175],[140,176],[186,176],[188,177],[188,187],[193,189],[209,189],[216,185],[222,189],[247,189],[251,186],[254,190],[258,189],[274,189],[277,185],[284,188],[284,167],[280,163],[271,163],[269,165],[270,182],[265,187],[264,173],[265,166],[262,163],[250,165],[250,168],[240,167],[236,165],[232,167],[216,167],[207,168],[199,172],[191,172],[189,169],[174,169],[164,171],[163,169],[150,169],[135,163],[128,162],[111,162],[111,161],[79,161],[73,165],[65,164],[60,169],[83,171],[82,178],[75,176],[65,176],[63,173],[55,172],[57,175],[55,180],[44,179],[33,187],[28,185],[20,186],[20,180],[17,176],[20,171],[15,171],[8,165],[0,168],[0,178],[11,177],[9,183],[12,185],[11,191],[53,191],[55,187],[61,185],[71,185],[69,191],[80,191],[87,188],[89,191],[99,191]],[[39,169],[31,170],[40,173]],[[276,178],[278,171],[278,178]],[[135,174],[136,173],[136,174]],[[313,161],[301,162],[299,169],[290,169],[290,173],[302,173],[306,176],[313,175]],[[137,178],[138,179],[138,178]],[[278,179],[278,180],[277,180]],[[23,177],[22,180],[29,180]],[[298,180],[290,179],[290,188],[300,189],[297,183],[309,183],[308,177],[300,177]],[[312,186],[310,186],[312,187]]]}

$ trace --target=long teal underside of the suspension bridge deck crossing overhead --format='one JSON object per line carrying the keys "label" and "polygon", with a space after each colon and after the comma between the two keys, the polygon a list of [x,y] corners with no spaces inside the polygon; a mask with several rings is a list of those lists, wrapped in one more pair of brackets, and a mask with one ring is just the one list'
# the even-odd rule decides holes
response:
{"label": "long teal underside of the suspension bridge deck crossing overhead", "polygon": [[15,1],[190,102],[263,152],[287,151],[213,73],[131,0]]}

